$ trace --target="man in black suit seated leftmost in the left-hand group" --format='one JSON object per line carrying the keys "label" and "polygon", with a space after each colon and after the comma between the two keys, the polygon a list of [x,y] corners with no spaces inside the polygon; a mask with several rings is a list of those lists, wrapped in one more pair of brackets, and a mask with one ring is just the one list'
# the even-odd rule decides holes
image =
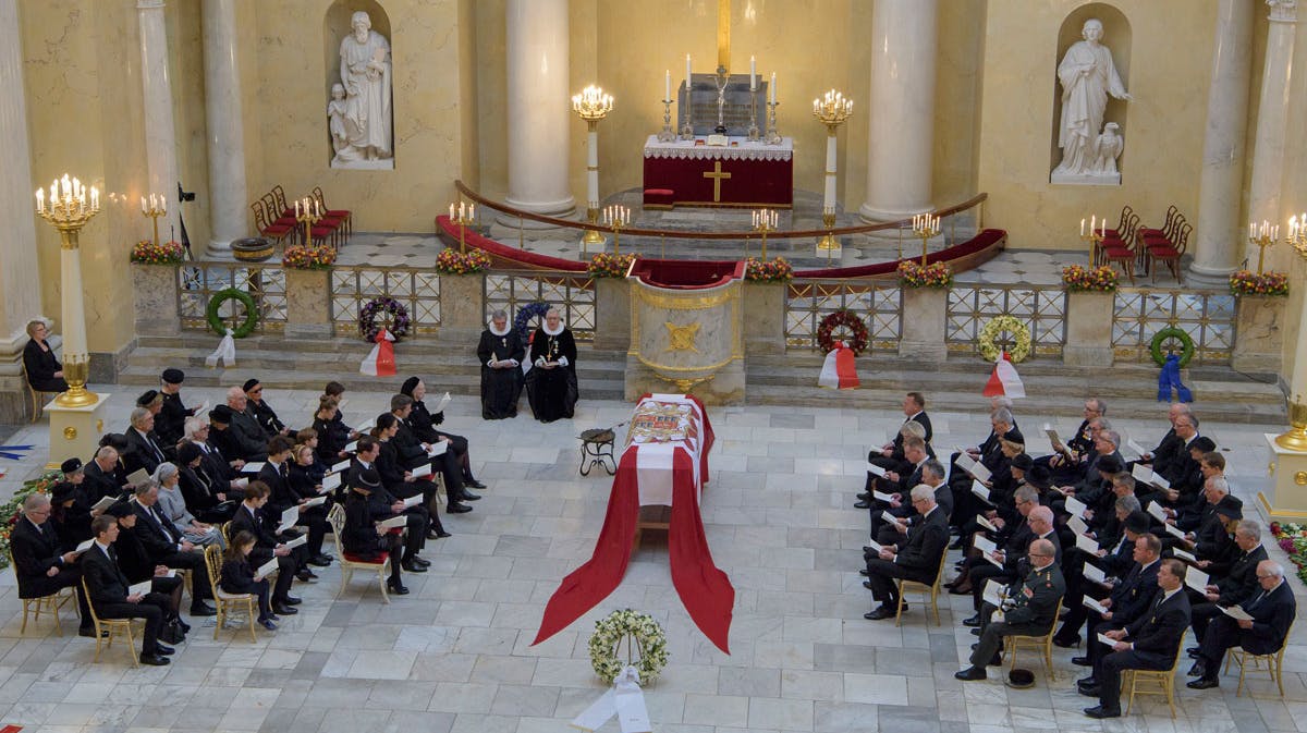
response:
{"label": "man in black suit seated leftmost in the left-hand group", "polygon": [[59,537],[47,521],[50,511],[50,499],[44,494],[29,494],[22,500],[22,516],[13,524],[9,551],[13,553],[18,597],[39,598],[52,596],[63,588],[77,588],[77,608],[82,619],[77,634],[94,636],[95,628],[86,610],[86,596],[80,585],[82,574],[77,564],[77,553],[60,553]]}

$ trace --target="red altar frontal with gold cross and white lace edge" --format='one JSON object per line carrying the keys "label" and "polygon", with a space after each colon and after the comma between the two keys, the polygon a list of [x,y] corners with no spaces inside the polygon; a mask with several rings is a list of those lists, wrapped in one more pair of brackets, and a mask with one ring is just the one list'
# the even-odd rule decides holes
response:
{"label": "red altar frontal with gold cross and white lace edge", "polygon": [[731,137],[707,145],[703,137],[644,142],[644,206],[779,206],[795,201],[795,144],[750,142]]}

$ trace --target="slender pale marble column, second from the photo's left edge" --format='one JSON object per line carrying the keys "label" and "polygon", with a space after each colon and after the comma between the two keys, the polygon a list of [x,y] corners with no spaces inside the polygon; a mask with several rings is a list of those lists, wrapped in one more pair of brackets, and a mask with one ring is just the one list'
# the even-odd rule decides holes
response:
{"label": "slender pale marble column, second from the photo's left edge", "polygon": [[162,193],[167,214],[159,217],[159,240],[182,236],[178,227],[176,132],[173,125],[173,88],[167,74],[167,26],[163,0],[137,0],[141,31],[141,85],[145,90],[144,193]]}

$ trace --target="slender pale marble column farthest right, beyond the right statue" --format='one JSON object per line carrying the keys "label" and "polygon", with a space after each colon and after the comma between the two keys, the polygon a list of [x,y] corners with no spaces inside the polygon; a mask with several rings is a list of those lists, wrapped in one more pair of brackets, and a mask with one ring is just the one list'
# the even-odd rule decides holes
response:
{"label": "slender pale marble column farthest right, beyond the right statue", "polygon": [[[1248,186],[1248,220],[1285,225],[1280,203],[1283,180],[1285,135],[1289,127],[1289,73],[1294,64],[1294,31],[1298,0],[1266,0],[1266,60],[1261,71],[1261,102],[1257,106],[1257,132]],[[1257,247],[1244,243],[1244,256],[1257,261]],[[1268,269],[1285,269],[1286,247],[1266,251]]]}

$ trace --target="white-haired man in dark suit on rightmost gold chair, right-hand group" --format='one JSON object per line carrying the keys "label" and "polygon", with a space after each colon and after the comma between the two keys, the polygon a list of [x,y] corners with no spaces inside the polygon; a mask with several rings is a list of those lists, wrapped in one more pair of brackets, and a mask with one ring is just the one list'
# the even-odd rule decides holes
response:
{"label": "white-haired man in dark suit on rightmost gold chair, right-hand group", "polygon": [[1236,621],[1221,614],[1208,625],[1199,644],[1199,659],[1189,670],[1189,677],[1197,679],[1191,681],[1188,687],[1216,687],[1226,649],[1242,647],[1249,655],[1273,655],[1285,645],[1289,627],[1298,614],[1298,601],[1285,583],[1283,566],[1274,561],[1257,563],[1257,584],[1261,592],[1238,605],[1251,619]]}

